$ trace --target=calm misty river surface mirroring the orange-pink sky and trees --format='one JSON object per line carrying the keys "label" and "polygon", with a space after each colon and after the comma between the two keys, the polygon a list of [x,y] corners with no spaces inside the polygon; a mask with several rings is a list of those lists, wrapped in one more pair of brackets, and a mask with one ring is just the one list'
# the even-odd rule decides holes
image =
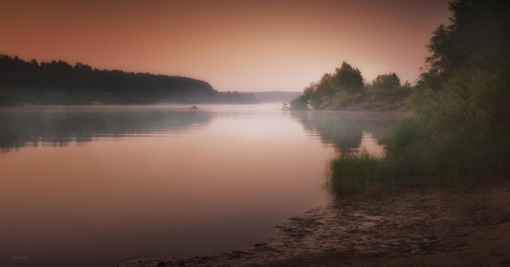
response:
{"label": "calm misty river surface mirroring the orange-pink sky and trees", "polygon": [[328,159],[401,113],[281,104],[0,108],[0,266],[232,249],[329,200]]}

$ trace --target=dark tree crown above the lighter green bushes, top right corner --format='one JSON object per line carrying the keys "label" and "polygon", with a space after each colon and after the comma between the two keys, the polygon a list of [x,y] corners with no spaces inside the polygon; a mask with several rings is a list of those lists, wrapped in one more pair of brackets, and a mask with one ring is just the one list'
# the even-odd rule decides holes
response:
{"label": "dark tree crown above the lighter green bushes, top right corner", "polygon": [[426,62],[433,72],[448,78],[478,51],[510,47],[506,1],[457,0],[448,10],[450,25],[440,24],[427,45],[432,56]]}

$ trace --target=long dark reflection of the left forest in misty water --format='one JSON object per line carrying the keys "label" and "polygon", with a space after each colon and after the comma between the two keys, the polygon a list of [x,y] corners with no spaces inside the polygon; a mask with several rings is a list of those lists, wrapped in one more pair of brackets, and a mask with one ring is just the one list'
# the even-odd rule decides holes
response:
{"label": "long dark reflection of the left forest in misty water", "polygon": [[[123,111],[121,109],[121,111]],[[0,151],[42,145],[67,146],[101,137],[150,135],[171,130],[186,131],[206,124],[208,112],[147,110],[107,112],[0,113]]]}

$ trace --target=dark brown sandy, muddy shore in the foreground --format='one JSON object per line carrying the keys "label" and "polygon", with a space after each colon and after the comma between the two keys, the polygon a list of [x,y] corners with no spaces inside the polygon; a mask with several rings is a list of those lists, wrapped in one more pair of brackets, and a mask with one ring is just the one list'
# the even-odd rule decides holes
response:
{"label": "dark brown sandy, muddy shore in the foreground", "polygon": [[510,266],[510,183],[355,196],[239,250],[119,266]]}

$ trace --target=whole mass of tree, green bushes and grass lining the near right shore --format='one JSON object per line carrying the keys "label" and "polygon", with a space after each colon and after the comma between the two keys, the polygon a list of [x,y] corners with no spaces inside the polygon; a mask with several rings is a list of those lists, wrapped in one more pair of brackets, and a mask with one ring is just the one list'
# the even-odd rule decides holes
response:
{"label": "whole mass of tree, green bushes and grass lining the near right shore", "polygon": [[[413,115],[382,140],[386,155],[340,155],[329,165],[339,196],[397,181],[483,183],[510,177],[510,16],[504,1],[449,4],[427,48]],[[384,83],[382,83],[384,84]]]}

